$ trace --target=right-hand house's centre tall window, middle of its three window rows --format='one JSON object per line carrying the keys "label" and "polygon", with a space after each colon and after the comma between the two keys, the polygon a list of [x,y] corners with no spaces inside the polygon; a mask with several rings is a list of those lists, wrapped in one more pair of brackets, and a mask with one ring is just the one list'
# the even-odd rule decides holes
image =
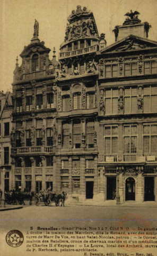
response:
{"label": "right-hand house's centre tall window, middle of its three window rows", "polygon": [[137,113],[137,88],[126,88],[124,90],[125,113]]}

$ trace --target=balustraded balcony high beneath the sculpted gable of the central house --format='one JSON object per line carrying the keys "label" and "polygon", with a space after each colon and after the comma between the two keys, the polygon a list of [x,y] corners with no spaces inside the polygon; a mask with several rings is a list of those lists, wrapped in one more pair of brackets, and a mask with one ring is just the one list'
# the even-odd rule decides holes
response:
{"label": "balustraded balcony high beneath the sculpted gable of the central house", "polygon": [[59,53],[59,60],[65,59],[65,58],[71,58],[74,56],[78,56],[81,54],[91,53],[91,52],[97,52],[98,51],[98,45],[89,46],[83,49],[74,50],[70,52],[60,52]]}

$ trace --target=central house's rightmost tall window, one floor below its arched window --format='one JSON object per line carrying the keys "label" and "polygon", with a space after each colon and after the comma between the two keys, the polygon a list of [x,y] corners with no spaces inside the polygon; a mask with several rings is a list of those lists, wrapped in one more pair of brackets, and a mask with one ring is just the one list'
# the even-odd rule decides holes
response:
{"label": "central house's rightmost tall window, one floor below its arched window", "polygon": [[90,121],[86,123],[86,146],[94,147],[94,122]]}

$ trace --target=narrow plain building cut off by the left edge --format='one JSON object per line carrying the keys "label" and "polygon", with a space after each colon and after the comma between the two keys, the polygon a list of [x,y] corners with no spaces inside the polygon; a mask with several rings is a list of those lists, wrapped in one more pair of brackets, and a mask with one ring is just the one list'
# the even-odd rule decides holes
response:
{"label": "narrow plain building cut off by the left edge", "polygon": [[[11,189],[12,93],[0,92],[0,166],[5,169],[4,189]],[[1,182],[2,184],[2,175]]]}

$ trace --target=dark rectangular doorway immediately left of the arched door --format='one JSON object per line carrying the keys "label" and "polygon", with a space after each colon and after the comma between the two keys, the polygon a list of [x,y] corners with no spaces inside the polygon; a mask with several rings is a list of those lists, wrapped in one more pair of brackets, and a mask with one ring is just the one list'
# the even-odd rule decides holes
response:
{"label": "dark rectangular doorway immediately left of the arched door", "polygon": [[116,177],[107,177],[107,200],[116,198]]}

